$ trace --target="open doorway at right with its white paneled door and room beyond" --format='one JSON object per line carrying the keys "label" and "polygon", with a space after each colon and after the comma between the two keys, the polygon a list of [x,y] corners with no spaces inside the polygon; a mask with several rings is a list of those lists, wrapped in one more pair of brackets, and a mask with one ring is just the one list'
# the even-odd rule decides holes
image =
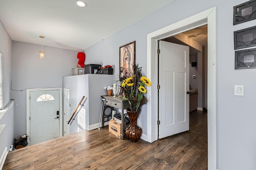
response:
{"label": "open doorway at right with its white paneled door and room beyond", "polygon": [[207,28],[158,41],[159,139],[187,131],[189,113],[207,108]]}

